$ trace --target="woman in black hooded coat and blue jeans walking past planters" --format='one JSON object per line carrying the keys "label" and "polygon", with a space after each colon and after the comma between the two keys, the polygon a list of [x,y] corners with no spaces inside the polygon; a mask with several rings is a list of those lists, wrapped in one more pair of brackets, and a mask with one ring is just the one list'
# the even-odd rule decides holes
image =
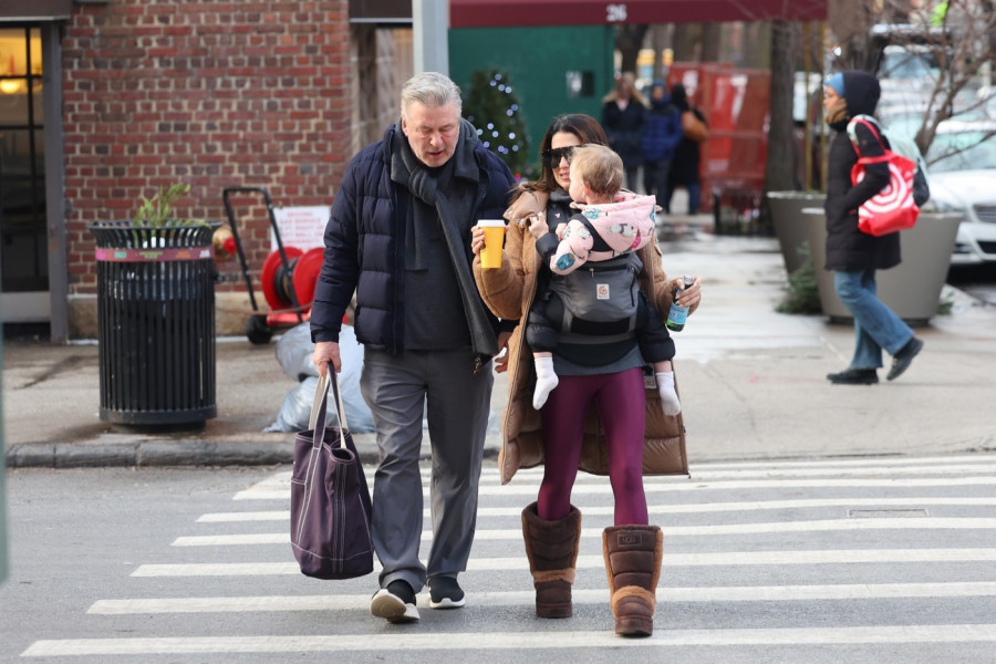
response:
{"label": "woman in black hooded coat and blue jeans walking past planters", "polygon": [[[827,169],[827,263],[833,287],[854,317],[855,345],[850,365],[827,378],[834,384],[871,385],[879,382],[882,349],[893,356],[886,378],[898,378],[923,349],[923,341],[889,309],[875,292],[875,270],[901,262],[899,232],[871,236],[858,228],[858,208],[889,185],[889,165],[868,164],[864,179],[851,184],[851,169],[862,158],[884,155],[882,143],[864,124],[848,123],[855,115],[872,115],[879,103],[879,81],[868,72],[845,71],[827,79],[823,106],[827,124],[837,134],[830,143]],[[884,138],[889,147],[888,138]]]}

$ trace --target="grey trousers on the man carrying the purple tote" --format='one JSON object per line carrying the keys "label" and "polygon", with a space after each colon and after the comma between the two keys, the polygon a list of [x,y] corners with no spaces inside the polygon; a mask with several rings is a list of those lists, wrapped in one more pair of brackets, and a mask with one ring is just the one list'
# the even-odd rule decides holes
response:
{"label": "grey trousers on the man carrying the purple tote", "polygon": [[[374,549],[383,566],[380,584],[407,581],[415,592],[426,579],[467,569],[477,526],[477,487],[495,376],[471,371],[470,349],[364,351],[360,390],[373,415],[380,450],[374,475]],[[422,541],[423,414],[432,446],[433,543],[428,564]]]}

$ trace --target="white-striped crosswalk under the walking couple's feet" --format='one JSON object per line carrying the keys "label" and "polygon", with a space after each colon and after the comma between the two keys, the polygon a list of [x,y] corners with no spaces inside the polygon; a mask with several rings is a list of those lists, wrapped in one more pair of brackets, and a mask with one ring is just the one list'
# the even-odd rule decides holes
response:
{"label": "white-striped crosswalk under the walking couple's feet", "polygon": [[[367,479],[372,486],[372,473]],[[360,656],[405,649],[450,651],[446,656],[453,658],[457,651],[509,649],[595,647],[606,649],[601,652],[609,656],[619,652],[615,649],[631,647],[778,645],[789,649],[779,651],[786,661],[803,661],[816,652],[813,647],[826,645],[881,646],[884,650],[869,652],[890,653],[889,647],[902,644],[952,649],[996,641],[993,455],[724,463],[693,467],[691,477],[646,478],[651,522],[660,523],[665,537],[657,601],[684,606],[686,622],[679,629],[658,622],[654,635],[643,640],[620,639],[611,623],[592,622],[594,614],[604,619],[596,609],[609,599],[601,532],[612,522],[613,507],[608,478],[584,474],[572,496],[585,526],[573,593],[574,622],[562,625],[571,631],[544,629],[542,623],[531,630],[526,625],[536,623],[513,620],[492,626],[489,621],[460,618],[495,606],[531,611],[533,592],[519,518],[522,506],[536,498],[541,479],[541,468],[525,469],[502,486],[494,465],[488,467],[481,480],[475,550],[461,577],[468,581],[468,606],[446,612],[450,622],[439,632],[417,626],[404,634],[384,632],[383,621],[367,614],[375,578],[323,585],[333,591],[329,594],[260,592],[260,583],[269,591],[300,578],[288,544],[290,473],[283,469],[232,496],[230,511],[201,515],[195,529],[175,537],[158,560],[137,562],[129,580],[136,584],[134,596],[101,599],[87,611],[94,616],[211,614],[204,632],[176,636],[165,630],[139,630],[122,637],[42,640],[22,655],[114,662],[129,655],[353,652]],[[427,495],[426,470],[423,481]],[[261,509],[239,509],[243,506]],[[430,528],[427,508],[424,528]],[[430,539],[428,530],[423,539]],[[427,547],[422,550],[426,553]],[[226,560],[235,551],[238,561]],[[375,568],[380,571],[378,564]],[[167,596],[147,596],[151,583],[174,590]],[[427,600],[427,593],[418,595],[426,611]],[[919,620],[935,615],[930,610],[934,603],[952,600],[967,606],[962,620],[952,618],[951,624]],[[737,615],[747,616],[755,611],[757,615],[793,611],[785,603],[828,602],[850,606],[840,611],[841,624],[800,624],[809,615],[801,610],[800,618],[786,626],[759,626],[765,623],[746,618],[743,624],[715,625],[709,618],[728,603],[739,606]],[[919,609],[886,612],[885,620],[892,622],[853,622],[872,615],[859,608],[874,602],[904,602]],[[702,609],[692,612],[689,606]],[[278,612],[347,612],[344,615],[365,615],[370,626],[367,633],[314,635],[281,631],[288,623],[273,621],[280,626],[267,632],[217,635],[225,633],[215,626],[224,624],[218,621]],[[689,613],[697,616],[697,624]],[[355,629],[366,623],[352,624]],[[483,624],[488,627],[474,629]]]}

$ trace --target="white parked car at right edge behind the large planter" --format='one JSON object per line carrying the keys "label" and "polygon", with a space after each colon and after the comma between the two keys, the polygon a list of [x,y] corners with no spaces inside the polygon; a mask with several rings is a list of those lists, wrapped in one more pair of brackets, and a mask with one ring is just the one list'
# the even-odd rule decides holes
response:
{"label": "white parked car at right edge behind the large planter", "polygon": [[951,263],[996,261],[996,122],[941,123],[926,160],[927,206],[965,215]]}

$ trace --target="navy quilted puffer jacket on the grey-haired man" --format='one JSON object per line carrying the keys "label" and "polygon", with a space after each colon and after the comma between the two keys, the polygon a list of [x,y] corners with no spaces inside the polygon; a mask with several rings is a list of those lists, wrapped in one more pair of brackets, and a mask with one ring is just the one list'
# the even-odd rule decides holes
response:
{"label": "navy quilted puffer jacket on the grey-haired man", "polygon": [[[396,126],[384,138],[356,154],[346,167],[325,227],[325,253],[314,291],[311,338],[339,341],[342,318],[356,293],[355,332],[360,343],[400,353],[404,350],[405,224],[409,193],[391,179],[392,143],[404,139]],[[474,214],[500,219],[515,179],[508,166],[479,143],[474,158],[480,167]],[[467,241],[467,264],[474,259]],[[492,326],[498,320],[489,312]]]}

